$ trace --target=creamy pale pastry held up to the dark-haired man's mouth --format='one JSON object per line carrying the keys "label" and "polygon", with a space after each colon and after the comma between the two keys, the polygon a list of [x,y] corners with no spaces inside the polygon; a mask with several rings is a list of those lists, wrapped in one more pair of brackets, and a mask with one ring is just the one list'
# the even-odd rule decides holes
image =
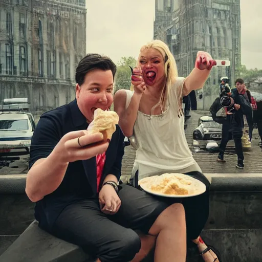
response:
{"label": "creamy pale pastry held up to the dark-haired man's mouth", "polygon": [[88,126],[89,134],[102,133],[104,141],[111,140],[112,135],[116,131],[119,116],[114,111],[103,111],[97,108],[94,112],[94,119]]}

